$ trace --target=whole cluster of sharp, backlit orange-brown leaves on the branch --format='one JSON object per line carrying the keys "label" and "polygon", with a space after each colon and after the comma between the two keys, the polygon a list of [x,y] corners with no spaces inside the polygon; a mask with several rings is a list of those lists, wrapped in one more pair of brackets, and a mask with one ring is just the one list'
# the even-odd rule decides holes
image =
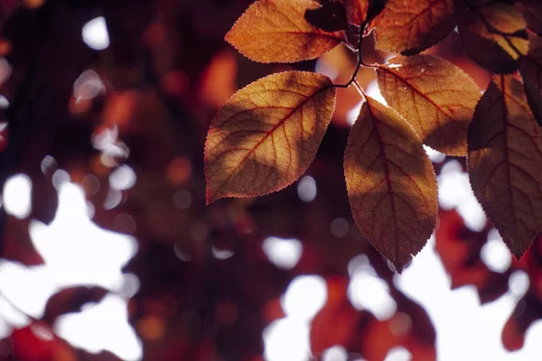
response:
{"label": "whole cluster of sharp, backlit orange-brown leaves on the branch", "polygon": [[[213,118],[205,144],[207,201],[281,190],[306,171],[322,142],[336,88],[364,103],[350,130],[344,173],[361,233],[401,272],[438,214],[435,171],[423,144],[467,157],[476,198],[511,252],[542,232],[542,35],[536,0],[258,0],[226,40],[250,60],[316,59],[344,44],[357,67],[344,84],[302,71],[259,79]],[[481,92],[459,67],[421,54],[454,29],[466,53],[494,73]],[[361,44],[381,51],[365,64]],[[360,68],[376,71],[387,105],[367,96]]]}

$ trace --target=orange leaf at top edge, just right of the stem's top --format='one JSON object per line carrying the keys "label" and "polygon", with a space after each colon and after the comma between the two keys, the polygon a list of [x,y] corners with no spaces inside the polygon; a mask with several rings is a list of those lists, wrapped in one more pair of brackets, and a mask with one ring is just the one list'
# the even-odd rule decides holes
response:
{"label": "orange leaf at top edge, just right of the stem's top", "polygon": [[375,18],[377,49],[416,54],[452,32],[453,0],[388,0]]}

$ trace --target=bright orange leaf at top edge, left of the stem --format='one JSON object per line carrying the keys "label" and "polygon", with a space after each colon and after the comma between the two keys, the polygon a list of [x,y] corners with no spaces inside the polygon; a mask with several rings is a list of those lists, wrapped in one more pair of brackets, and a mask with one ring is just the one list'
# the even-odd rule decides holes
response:
{"label": "bright orange leaf at top edge, left of the stem", "polygon": [[318,58],[346,40],[344,32],[325,32],[305,20],[305,11],[319,6],[312,0],[258,0],[239,17],[226,41],[259,62]]}

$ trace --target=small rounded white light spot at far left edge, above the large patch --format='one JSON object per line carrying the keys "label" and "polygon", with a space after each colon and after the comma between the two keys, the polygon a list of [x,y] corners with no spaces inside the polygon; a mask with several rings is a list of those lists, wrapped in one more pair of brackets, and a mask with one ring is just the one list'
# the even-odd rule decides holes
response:
{"label": "small rounded white light spot at far left edge, above the large patch", "polygon": [[5,212],[16,218],[30,216],[32,211],[32,180],[26,174],[16,174],[4,184]]}

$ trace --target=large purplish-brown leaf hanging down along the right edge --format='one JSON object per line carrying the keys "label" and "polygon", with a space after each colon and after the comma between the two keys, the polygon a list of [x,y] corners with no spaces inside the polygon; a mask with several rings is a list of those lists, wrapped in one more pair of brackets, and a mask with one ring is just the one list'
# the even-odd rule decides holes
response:
{"label": "large purplish-brown leaf hanging down along the right edge", "polygon": [[519,259],[542,231],[542,128],[518,79],[501,75],[491,82],[468,143],[474,195]]}

